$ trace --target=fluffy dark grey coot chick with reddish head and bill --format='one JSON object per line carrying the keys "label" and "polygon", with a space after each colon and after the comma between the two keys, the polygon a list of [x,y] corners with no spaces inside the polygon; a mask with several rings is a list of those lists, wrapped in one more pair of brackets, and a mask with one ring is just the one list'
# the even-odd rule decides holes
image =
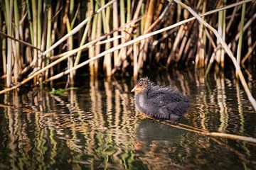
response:
{"label": "fluffy dark grey coot chick with reddish head and bill", "polygon": [[132,92],[137,111],[154,118],[179,120],[189,107],[188,97],[169,86],[155,86],[147,77],[139,79]]}

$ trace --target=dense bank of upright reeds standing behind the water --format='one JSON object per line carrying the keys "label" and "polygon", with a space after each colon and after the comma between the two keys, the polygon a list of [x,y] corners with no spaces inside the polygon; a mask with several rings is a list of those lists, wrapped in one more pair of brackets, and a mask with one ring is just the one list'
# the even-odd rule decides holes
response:
{"label": "dense bank of upright reeds standing behind the water", "polygon": [[[38,74],[33,78],[34,81],[47,81],[61,72],[63,68],[73,69],[82,60],[92,59],[101,52],[122,45],[140,35],[191,17],[191,14],[179,4],[164,0],[80,2],[14,0],[0,3],[2,35],[0,70],[1,74],[6,77],[8,87],[53,63],[56,58],[51,56],[82,47],[102,35],[106,35],[105,38],[97,41],[116,39],[97,45],[94,42],[83,49],[88,49],[88,53],[79,51],[70,55],[67,60],[55,64],[54,69],[50,67],[50,72],[46,69],[46,72]],[[243,64],[246,60],[250,63],[253,60],[250,55],[255,52],[255,43],[252,43],[255,42],[255,38],[252,33],[256,28],[252,26],[252,22],[256,18],[253,12],[256,6],[255,3],[249,2],[249,4],[247,8],[245,4],[235,5],[234,8],[203,16],[207,23],[217,28],[223,40],[230,45],[233,54],[237,54],[238,64],[240,60]],[[191,1],[189,4],[197,13],[210,11],[213,6],[220,8],[228,5],[230,4],[225,0],[218,1],[218,3]],[[102,8],[102,6],[105,7]],[[240,20],[234,19],[238,16]],[[85,21],[85,18],[87,22],[73,33],[73,29]],[[11,38],[7,38],[2,33]],[[118,37],[119,35],[121,37]],[[235,35],[238,35],[238,38]],[[63,37],[67,38],[53,47],[53,50],[46,52],[51,45]],[[17,40],[28,42],[31,45]],[[250,52],[249,55],[246,55],[247,51]],[[169,67],[174,64],[189,65],[193,61],[196,68],[207,68],[209,72],[214,61],[220,68],[225,66],[224,56],[225,51],[213,33],[207,32],[203,24],[191,21],[141,40],[140,43],[135,42],[115,50],[113,53],[106,54],[102,60],[93,60],[89,63],[89,69],[85,69],[84,72],[89,72],[91,75],[104,72],[105,76],[110,76],[115,72],[126,72],[128,67],[133,67],[133,75],[136,79],[139,70],[145,65],[151,66],[154,63]],[[73,83],[75,71],[68,74],[70,83]]]}

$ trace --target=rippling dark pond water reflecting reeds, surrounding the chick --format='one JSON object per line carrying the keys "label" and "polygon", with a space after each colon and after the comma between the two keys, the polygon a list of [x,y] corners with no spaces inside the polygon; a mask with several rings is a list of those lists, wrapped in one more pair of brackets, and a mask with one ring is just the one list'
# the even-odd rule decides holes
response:
{"label": "rippling dark pond water reflecting reeds, surrounding the chick", "polygon": [[[190,96],[181,123],[256,137],[256,114],[234,77],[148,74]],[[256,96],[255,77],[247,77]],[[255,169],[256,144],[173,128],[134,111],[130,79],[82,79],[63,96],[0,96],[0,169]]]}

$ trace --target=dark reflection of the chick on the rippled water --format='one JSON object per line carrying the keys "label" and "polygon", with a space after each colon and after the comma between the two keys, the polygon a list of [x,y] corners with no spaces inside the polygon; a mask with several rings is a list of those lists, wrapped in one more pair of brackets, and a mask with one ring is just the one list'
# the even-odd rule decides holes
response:
{"label": "dark reflection of the chick on the rippled water", "polygon": [[142,119],[137,122],[137,141],[134,149],[141,155],[139,159],[148,169],[179,169],[176,158],[169,157],[176,152],[182,141],[183,130],[172,128],[156,120]]}

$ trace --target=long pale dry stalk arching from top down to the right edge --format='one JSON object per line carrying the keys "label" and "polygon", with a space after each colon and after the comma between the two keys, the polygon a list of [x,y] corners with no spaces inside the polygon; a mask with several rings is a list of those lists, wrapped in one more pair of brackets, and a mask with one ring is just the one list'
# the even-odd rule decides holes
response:
{"label": "long pale dry stalk arching from top down to the right edge", "polygon": [[228,48],[228,45],[223,41],[223,39],[221,38],[220,34],[212,27],[210,26],[208,23],[206,23],[206,21],[203,21],[202,18],[195,12],[193,11],[193,9],[189,6],[186,6],[186,4],[183,4],[181,1],[179,0],[174,0],[177,4],[181,4],[181,6],[183,6],[183,8],[186,8],[193,16],[196,17],[196,19],[200,22],[203,23],[204,26],[206,26],[207,28],[209,28],[211,31],[213,31],[213,33],[215,34],[215,36],[218,38],[218,40],[220,40],[221,45],[223,46],[223,48],[225,49],[225,51],[227,52],[228,56],[230,57],[230,59],[232,60],[235,69],[238,70],[238,76],[240,78],[241,84],[243,86],[243,88],[245,89],[245,93],[247,94],[247,97],[250,101],[250,103],[252,104],[253,108],[256,111],[256,101],[255,98],[253,98],[250,89],[247,86],[247,83],[245,81],[245,77],[243,77],[242,71],[240,69],[240,66],[237,62],[237,60],[235,60],[235,57],[233,55],[233,53],[231,52],[231,50]]}

